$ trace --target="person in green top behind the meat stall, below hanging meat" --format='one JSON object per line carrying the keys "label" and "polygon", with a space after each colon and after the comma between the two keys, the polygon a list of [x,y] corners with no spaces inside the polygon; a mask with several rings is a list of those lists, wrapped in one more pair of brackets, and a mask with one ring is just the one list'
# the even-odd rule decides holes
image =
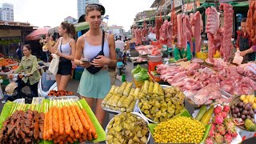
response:
{"label": "person in green top behind the meat stall, below hanging meat", "polygon": [[176,62],[190,61],[191,58],[192,54],[188,44],[186,45],[186,48],[180,46],[174,48],[174,59]]}

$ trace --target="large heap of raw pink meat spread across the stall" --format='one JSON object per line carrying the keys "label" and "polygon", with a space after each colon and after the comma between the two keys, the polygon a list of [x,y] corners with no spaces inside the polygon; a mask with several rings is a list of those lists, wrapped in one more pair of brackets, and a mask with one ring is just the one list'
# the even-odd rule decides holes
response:
{"label": "large heap of raw pink meat spread across the stall", "polygon": [[161,74],[160,78],[163,81],[170,83],[171,86],[178,86],[187,98],[199,105],[213,100],[230,102],[231,98],[222,97],[222,90],[237,95],[253,94],[256,90],[255,63],[234,66],[216,58],[213,64],[214,70],[197,62],[191,63],[187,69],[162,64],[157,66],[157,72]]}

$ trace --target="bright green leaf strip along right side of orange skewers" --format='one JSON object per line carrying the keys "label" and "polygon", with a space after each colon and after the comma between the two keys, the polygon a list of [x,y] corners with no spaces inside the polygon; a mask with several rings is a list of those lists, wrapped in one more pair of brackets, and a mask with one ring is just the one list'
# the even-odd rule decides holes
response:
{"label": "bright green leaf strip along right side of orange skewers", "polygon": [[99,124],[98,119],[94,115],[94,112],[90,109],[90,106],[87,104],[85,99],[79,100],[82,107],[86,110],[87,114],[90,117],[91,122],[93,122],[94,127],[96,129],[96,133],[98,134],[98,138],[94,139],[92,142],[102,142],[106,140],[106,133],[103,130],[102,126]]}

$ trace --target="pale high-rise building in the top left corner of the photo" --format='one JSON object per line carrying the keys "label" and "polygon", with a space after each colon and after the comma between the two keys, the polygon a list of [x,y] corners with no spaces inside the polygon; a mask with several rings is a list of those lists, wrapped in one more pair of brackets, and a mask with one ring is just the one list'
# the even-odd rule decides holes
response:
{"label": "pale high-rise building in the top left corner of the photo", "polygon": [[9,3],[3,3],[0,15],[0,20],[14,22],[14,6]]}

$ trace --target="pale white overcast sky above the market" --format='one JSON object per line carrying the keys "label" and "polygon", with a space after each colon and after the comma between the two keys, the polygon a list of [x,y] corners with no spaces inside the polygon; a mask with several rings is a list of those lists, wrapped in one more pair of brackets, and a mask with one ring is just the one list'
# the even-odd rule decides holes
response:
{"label": "pale white overcast sky above the market", "polygon": [[[14,5],[14,21],[30,22],[33,26],[58,26],[64,18],[77,18],[77,0],[0,0]],[[129,30],[135,15],[150,10],[154,0],[99,0],[110,15],[109,25]],[[106,20],[104,20],[107,22]]]}

